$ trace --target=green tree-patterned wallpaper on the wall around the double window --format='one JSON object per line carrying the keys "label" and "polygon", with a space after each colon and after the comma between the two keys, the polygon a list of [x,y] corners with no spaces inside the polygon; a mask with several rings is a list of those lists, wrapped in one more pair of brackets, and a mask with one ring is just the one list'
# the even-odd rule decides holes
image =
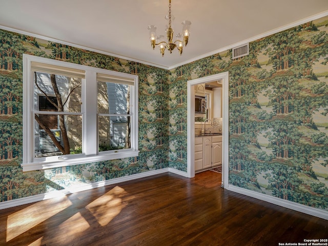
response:
{"label": "green tree-patterned wallpaper on the wall around the double window", "polygon": [[[23,172],[23,53],[139,76],[139,156]],[[169,72],[0,30],[0,202],[168,167]]]}

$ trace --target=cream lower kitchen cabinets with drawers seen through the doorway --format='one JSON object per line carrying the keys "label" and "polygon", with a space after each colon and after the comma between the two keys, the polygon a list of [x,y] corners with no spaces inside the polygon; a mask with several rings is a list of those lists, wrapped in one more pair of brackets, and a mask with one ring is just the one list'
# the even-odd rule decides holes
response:
{"label": "cream lower kitchen cabinets with drawers seen through the doorway", "polygon": [[195,137],[195,171],[222,165],[222,136]]}

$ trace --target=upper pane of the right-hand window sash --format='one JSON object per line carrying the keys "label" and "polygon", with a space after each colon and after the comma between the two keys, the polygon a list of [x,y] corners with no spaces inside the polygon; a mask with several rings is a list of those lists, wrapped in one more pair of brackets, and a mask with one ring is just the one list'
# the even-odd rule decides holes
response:
{"label": "upper pane of the right-hand window sash", "polygon": [[98,113],[129,114],[130,86],[98,81]]}

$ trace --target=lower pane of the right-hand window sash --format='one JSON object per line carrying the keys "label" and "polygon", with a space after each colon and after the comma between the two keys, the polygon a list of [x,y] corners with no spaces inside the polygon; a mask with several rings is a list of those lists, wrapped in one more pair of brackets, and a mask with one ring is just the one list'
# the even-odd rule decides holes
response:
{"label": "lower pane of the right-hand window sash", "polygon": [[98,116],[99,152],[130,149],[130,116]]}

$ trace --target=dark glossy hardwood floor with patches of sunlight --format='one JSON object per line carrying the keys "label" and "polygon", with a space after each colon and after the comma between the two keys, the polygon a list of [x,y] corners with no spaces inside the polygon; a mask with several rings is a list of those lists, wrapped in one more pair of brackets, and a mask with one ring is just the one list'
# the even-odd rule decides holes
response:
{"label": "dark glossy hardwood floor with patches of sunlight", "polygon": [[[0,245],[279,245],[328,238],[328,221],[165,173],[0,211]],[[282,244],[280,244],[282,245]]]}

